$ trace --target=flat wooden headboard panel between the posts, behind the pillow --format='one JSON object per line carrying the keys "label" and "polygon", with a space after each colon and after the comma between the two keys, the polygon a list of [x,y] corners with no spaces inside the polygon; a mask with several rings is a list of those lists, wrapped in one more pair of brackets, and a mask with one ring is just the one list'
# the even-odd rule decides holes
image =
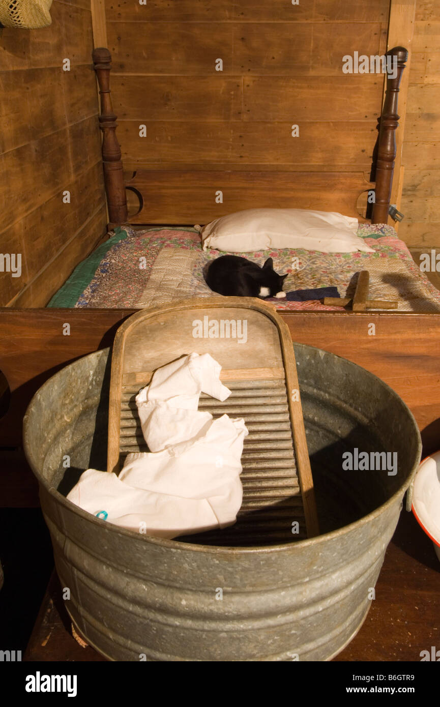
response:
{"label": "flat wooden headboard panel between the posts, behind the pillow", "polygon": [[[139,170],[127,186],[138,189],[144,198],[143,209],[132,216],[132,223],[202,224],[256,205],[352,216],[358,195],[370,185],[363,173]],[[219,190],[221,204],[216,203]],[[363,221],[360,216],[359,221]]]}

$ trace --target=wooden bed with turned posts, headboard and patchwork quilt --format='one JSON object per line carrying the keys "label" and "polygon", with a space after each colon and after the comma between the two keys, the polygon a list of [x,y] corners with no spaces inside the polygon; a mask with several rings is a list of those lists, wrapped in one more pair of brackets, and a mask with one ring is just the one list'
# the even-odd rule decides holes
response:
{"label": "wooden bed with turned posts, headboard and patchwork quilt", "polygon": [[[407,52],[395,47],[388,54],[395,58],[398,70],[394,77],[387,74],[386,99],[378,120],[369,182],[365,173],[339,171],[337,165],[328,173],[288,172],[281,167],[279,171],[250,173],[189,172],[180,168],[158,171],[138,169],[131,162],[122,164],[110,95],[110,52],[95,49],[109,225],[115,231],[110,240],[79,264],[49,306],[145,308],[176,299],[210,296],[213,293],[204,282],[204,268],[225,252],[203,251],[193,224],[224,216],[233,206],[239,210],[277,206],[356,216],[357,235],[374,249],[374,253],[330,254],[292,249],[238,253],[258,264],[272,257],[274,269],[288,273],[284,291],[335,286],[341,297],[349,297],[354,293],[357,274],[367,269],[369,298],[397,300],[397,309],[402,312],[439,312],[439,291],[421,273],[395,230],[387,225],[399,118],[398,90]],[[221,200],[214,203],[212,199],[219,186],[222,194],[228,194],[227,204]],[[149,228],[141,228],[141,223],[148,223]],[[166,226],[160,225],[164,223]],[[274,300],[275,303],[281,311],[335,309],[319,300]]]}

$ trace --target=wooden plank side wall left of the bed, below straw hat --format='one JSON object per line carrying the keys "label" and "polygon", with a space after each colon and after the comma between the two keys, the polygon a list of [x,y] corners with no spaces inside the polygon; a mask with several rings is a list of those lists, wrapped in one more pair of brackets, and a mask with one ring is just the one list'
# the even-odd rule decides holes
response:
{"label": "wooden plank side wall left of the bed, below straw hat", "polygon": [[22,256],[20,277],[0,271],[4,306],[45,305],[107,222],[90,0],[50,14],[50,27],[0,34],[0,250]]}

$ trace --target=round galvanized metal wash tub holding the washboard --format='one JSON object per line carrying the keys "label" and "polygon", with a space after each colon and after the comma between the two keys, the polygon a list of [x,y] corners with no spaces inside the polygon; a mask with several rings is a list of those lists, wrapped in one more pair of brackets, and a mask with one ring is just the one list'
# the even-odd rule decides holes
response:
{"label": "round galvanized metal wash tub holding the washboard", "polygon": [[[36,393],[25,452],[70,589],[66,608],[103,655],[328,660],[359,630],[419,464],[419,431],[398,395],[363,368],[311,346],[295,344],[295,354],[323,534],[270,547],[155,539],[66,501],[69,475],[106,468],[108,349]],[[344,470],[342,454],[354,449],[397,452],[398,472]]]}

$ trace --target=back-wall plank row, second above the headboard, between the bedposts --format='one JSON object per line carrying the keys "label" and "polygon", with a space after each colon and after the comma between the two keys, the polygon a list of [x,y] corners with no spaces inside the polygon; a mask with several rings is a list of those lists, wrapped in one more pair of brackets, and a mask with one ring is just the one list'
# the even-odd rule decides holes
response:
{"label": "back-wall plank row, second above the headboard, between the bedposts", "polygon": [[[319,76],[216,76],[215,80],[207,76],[168,76],[166,86],[159,76],[115,74],[112,96],[118,118],[139,122],[148,119],[178,122],[192,119],[196,123],[199,120],[241,121],[243,116],[246,121],[267,123],[335,122],[338,119],[371,123],[380,111],[381,85],[374,74],[334,76],[325,82]],[[361,103],[359,100],[349,102],[359,93]]]}

